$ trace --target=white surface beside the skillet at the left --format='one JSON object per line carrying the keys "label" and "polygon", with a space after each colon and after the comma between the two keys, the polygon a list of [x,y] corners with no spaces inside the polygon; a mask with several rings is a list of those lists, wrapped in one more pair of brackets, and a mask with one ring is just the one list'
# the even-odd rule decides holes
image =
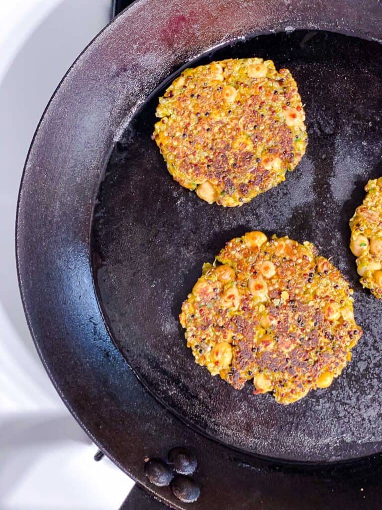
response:
{"label": "white surface beside the skillet at the left", "polygon": [[133,482],[53,389],[19,297],[14,224],[22,167],[54,89],[108,22],[111,0],[0,0],[0,509],[119,508]]}

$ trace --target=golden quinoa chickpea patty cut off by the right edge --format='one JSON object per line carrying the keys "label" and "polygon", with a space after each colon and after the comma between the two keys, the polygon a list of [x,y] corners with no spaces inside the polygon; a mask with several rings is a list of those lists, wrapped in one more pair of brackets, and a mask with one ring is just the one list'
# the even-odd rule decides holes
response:
{"label": "golden quinoa chickpea patty cut off by the right edge", "polygon": [[350,220],[350,249],[357,258],[360,282],[382,299],[382,177],[369,181],[362,206]]}

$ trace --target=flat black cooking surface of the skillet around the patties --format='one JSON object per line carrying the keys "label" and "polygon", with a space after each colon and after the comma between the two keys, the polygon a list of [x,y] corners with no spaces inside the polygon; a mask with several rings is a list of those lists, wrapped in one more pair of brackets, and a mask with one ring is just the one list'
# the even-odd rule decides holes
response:
{"label": "flat black cooking surface of the skillet around the patties", "polygon": [[[180,418],[235,448],[295,461],[344,460],[382,450],[382,302],[362,290],[348,220],[382,174],[379,44],[324,32],[267,35],[216,50],[288,67],[306,103],[309,145],[277,188],[240,208],[209,206],[172,180],[150,139],[158,95],[116,144],[92,232],[98,298],[113,339],[147,388]],[[354,288],[364,336],[328,390],[289,406],[253,386],[235,391],[194,363],[178,315],[203,262],[233,237],[262,230],[312,241]],[[126,367],[127,370],[127,367]]]}

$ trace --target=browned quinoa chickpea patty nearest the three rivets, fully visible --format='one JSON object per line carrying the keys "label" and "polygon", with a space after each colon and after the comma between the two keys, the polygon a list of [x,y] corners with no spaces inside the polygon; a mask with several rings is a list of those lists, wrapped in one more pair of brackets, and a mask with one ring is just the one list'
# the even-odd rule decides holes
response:
{"label": "browned quinoa chickpea patty nearest the three rivets, fully visible", "polygon": [[[219,265],[219,263],[221,265]],[[362,335],[352,290],[316,248],[250,232],[232,239],[182,305],[195,360],[212,375],[289,404],[326,388]]]}

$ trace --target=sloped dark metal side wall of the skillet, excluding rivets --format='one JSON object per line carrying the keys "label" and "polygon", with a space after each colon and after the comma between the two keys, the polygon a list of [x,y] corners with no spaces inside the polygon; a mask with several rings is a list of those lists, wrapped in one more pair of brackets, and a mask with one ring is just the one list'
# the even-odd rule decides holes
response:
{"label": "sloped dark metal side wall of the skillet, excluding rivets", "polygon": [[17,219],[20,289],[32,335],[53,384],[90,437],[175,508],[187,505],[168,488],[150,486],[143,463],[175,445],[197,451],[202,494],[196,509],[376,508],[379,461],[350,471],[281,471],[186,428],[141,386],[105,329],[90,267],[93,200],[112,142],[167,75],[216,44],[285,27],[379,38],[380,11],[374,2],[360,10],[352,1],[140,0],[76,61],[40,122]]}

